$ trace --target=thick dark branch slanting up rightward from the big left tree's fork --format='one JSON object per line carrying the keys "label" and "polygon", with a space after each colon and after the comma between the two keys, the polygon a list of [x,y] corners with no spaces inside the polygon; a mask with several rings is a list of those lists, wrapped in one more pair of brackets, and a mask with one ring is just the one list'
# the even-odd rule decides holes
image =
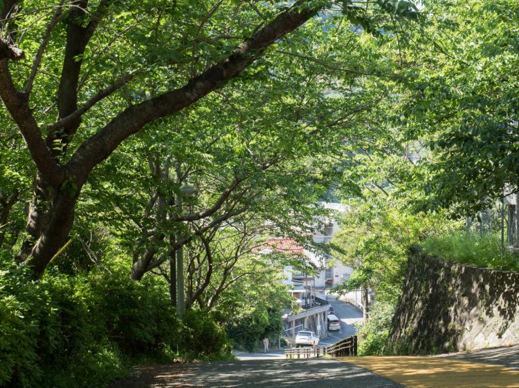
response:
{"label": "thick dark branch slanting up rightward from the big left tree's fork", "polygon": [[226,81],[237,77],[274,41],[301,26],[317,11],[318,9],[304,8],[301,3],[295,3],[255,32],[253,37],[244,41],[227,59],[211,66],[182,88],[130,106],[78,148],[69,161],[69,168],[84,182],[91,169],[106,159],[127,137],[137,133],[145,124],[194,104],[223,86]]}

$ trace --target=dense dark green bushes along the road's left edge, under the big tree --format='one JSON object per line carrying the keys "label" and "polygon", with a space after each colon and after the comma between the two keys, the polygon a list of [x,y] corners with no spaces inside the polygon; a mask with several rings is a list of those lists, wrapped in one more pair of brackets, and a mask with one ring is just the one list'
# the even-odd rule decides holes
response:
{"label": "dense dark green bushes along the road's left edge, under the big tree", "polygon": [[210,317],[188,312],[179,324],[161,279],[0,272],[0,386],[105,387],[132,363],[228,350]]}

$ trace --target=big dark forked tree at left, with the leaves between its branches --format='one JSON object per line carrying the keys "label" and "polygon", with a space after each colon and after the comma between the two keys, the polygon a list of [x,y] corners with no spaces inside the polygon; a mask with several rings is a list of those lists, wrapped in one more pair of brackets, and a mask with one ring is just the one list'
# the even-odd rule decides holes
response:
{"label": "big dark forked tree at left, with the leaves between its branches", "polygon": [[[378,3],[375,10],[416,13],[408,1]],[[331,4],[4,1],[0,97],[37,167],[17,260],[41,274],[66,241],[95,166],[147,124],[222,88]],[[343,12],[372,26],[371,7],[345,1]]]}

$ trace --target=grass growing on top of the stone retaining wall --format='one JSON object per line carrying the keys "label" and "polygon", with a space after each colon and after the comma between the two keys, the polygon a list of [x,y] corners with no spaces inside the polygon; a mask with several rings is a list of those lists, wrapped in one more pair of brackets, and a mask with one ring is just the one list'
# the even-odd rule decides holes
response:
{"label": "grass growing on top of the stone retaining wall", "polygon": [[509,251],[502,253],[500,237],[491,233],[451,232],[428,237],[421,242],[421,247],[424,253],[436,258],[519,272],[519,255]]}

